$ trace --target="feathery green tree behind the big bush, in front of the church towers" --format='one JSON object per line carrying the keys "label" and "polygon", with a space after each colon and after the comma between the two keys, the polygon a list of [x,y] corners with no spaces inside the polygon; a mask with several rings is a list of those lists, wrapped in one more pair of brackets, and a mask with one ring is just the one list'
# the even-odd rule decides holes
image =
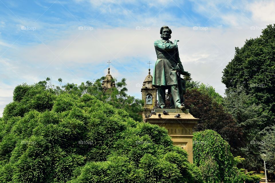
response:
{"label": "feathery green tree behind the big bush, in front of the church towers", "polygon": [[[111,87],[107,90],[104,90],[102,87],[102,81],[104,79],[105,77],[101,77],[100,79],[96,79],[93,82],[82,82],[80,85],[67,83],[61,86],[62,79],[59,78],[58,81],[60,82],[60,85],[56,86],[53,84],[52,80],[47,77],[46,81],[40,81],[38,84],[44,86],[46,89],[49,89],[56,94],[61,94],[64,92],[77,96],[90,94],[95,96],[97,99],[114,106],[115,108],[124,109],[134,120],[142,121],[143,119],[141,113],[144,102],[143,100],[127,95],[128,89],[126,88],[126,79],[121,79],[121,81],[116,82],[116,87]],[[113,82],[115,81],[117,80],[114,79]]]}

